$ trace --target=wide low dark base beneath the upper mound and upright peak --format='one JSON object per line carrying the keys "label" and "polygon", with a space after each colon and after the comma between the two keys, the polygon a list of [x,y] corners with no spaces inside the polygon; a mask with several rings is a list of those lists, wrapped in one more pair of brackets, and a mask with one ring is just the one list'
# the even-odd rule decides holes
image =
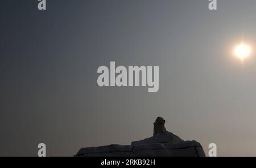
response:
{"label": "wide low dark base beneath the upper mound and upright peak", "polygon": [[75,156],[84,157],[205,157],[197,141],[139,145],[108,145],[82,148]]}

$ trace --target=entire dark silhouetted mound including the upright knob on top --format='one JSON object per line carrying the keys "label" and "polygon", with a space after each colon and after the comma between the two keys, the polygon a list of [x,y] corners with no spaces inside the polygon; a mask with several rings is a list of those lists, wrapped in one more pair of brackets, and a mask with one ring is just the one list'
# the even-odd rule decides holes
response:
{"label": "entire dark silhouetted mound including the upright knob on top", "polygon": [[162,117],[156,118],[154,136],[133,141],[131,145],[108,145],[82,148],[75,156],[85,157],[204,157],[204,149],[197,141],[184,141],[166,131]]}

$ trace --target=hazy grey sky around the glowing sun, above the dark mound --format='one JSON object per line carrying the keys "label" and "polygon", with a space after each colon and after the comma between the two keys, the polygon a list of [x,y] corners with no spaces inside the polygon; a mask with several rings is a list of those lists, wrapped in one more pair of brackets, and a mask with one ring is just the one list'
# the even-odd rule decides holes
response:
{"label": "hazy grey sky around the glowing sun, above the dark mound", "polygon": [[[0,156],[73,156],[167,131],[256,156],[256,2],[0,0]],[[241,40],[252,48],[243,63]],[[254,47],[255,46],[255,47]],[[159,91],[99,87],[97,68],[159,66]]]}

